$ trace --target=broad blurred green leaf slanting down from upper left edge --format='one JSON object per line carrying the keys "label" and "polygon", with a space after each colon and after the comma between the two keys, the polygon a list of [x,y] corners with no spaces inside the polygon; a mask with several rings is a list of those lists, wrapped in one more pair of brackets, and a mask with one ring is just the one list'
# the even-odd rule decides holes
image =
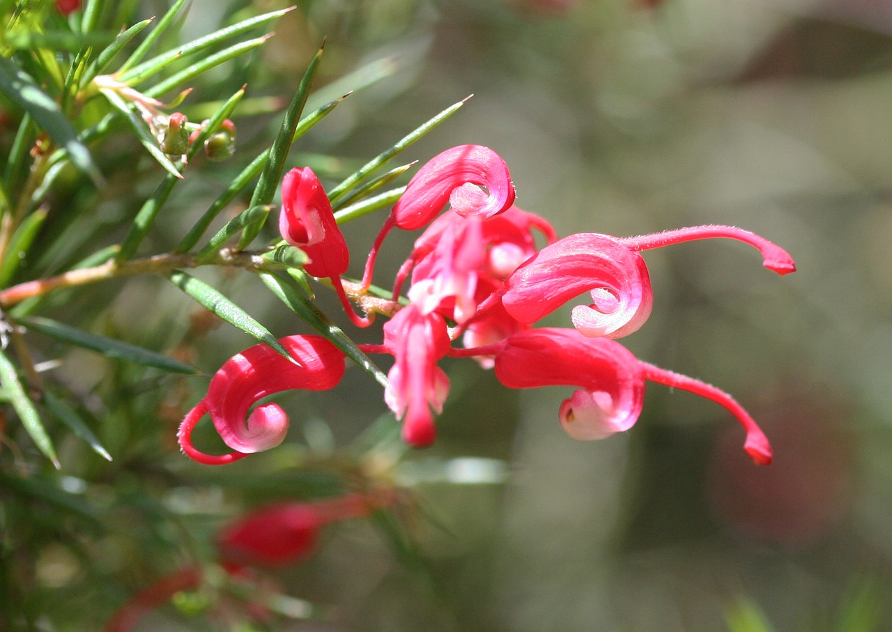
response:
{"label": "broad blurred green leaf slanting down from upper left edge", "polygon": [[78,132],[62,113],[58,103],[41,90],[28,73],[4,57],[0,57],[0,92],[12,103],[27,111],[54,143],[68,152],[75,167],[90,176],[95,183],[102,180],[99,169],[90,158],[87,146],[78,140]]}

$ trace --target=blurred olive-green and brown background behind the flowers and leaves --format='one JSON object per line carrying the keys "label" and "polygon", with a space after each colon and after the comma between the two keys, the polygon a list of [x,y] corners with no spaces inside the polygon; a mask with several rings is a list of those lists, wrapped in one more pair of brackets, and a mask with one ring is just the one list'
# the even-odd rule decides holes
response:
{"label": "blurred olive-green and brown background behind the flowers and leaves", "polygon": [[[557,421],[568,390],[508,391],[473,363],[445,362],[452,393],[440,439],[394,466],[411,490],[414,511],[404,519],[424,568],[401,562],[367,521],[339,525],[310,560],[277,573],[288,594],[328,606],[326,616],[274,629],[892,629],[892,4],[298,4],[277,24],[262,63],[217,78],[220,94],[248,80],[254,96],[289,98],[327,37],[313,103],[360,89],[301,141],[294,164],[349,173],[474,94],[407,160],[486,144],[507,160],[517,205],[559,234],[731,224],[784,246],[799,269],[779,278],[736,242],[649,251],[654,314],[624,340],[648,362],[731,392],[771,437],[772,466],[750,464],[730,415],[688,393],[651,385],[632,431],[580,443]],[[233,12],[278,5],[195,0],[184,32],[196,37]],[[140,11],[165,6],[145,2]],[[260,147],[276,117],[238,125],[239,142]],[[212,199],[235,173],[227,169],[184,190],[184,226],[194,221],[190,205]],[[381,217],[344,226],[356,274]],[[176,242],[182,226],[172,222],[169,233],[154,237],[157,248]],[[383,278],[411,240],[388,240]],[[255,279],[223,283],[274,332],[309,331]],[[161,281],[106,284],[105,296],[110,287],[117,298],[103,318],[122,338],[188,333],[184,299]],[[319,300],[339,319],[334,302]],[[203,333],[195,362],[209,373],[245,346],[227,327],[191,323]],[[564,311],[547,324],[567,323]],[[168,401],[178,393],[170,406],[181,412],[206,386],[110,378],[97,362],[85,354],[70,375],[96,397],[110,380],[139,383]],[[140,408],[143,392],[119,411],[122,423],[103,429],[114,464],[93,460],[69,472],[88,481],[94,500],[104,484],[120,502],[111,535],[94,549],[103,558],[98,575],[85,576],[66,546],[38,552],[46,590],[80,606],[99,603],[96,620],[182,562],[188,547],[178,529],[201,551],[202,537],[237,507],[324,495],[318,468],[284,464],[325,463],[386,413],[379,387],[354,369],[333,393],[285,398],[302,434],[295,430],[293,445],[266,466],[248,459],[205,472],[183,463],[172,434],[145,430],[157,428],[158,414],[157,401]],[[140,427],[144,443],[134,445]],[[147,522],[153,512],[163,517]],[[91,578],[102,589],[85,589]],[[58,612],[49,619],[70,629]],[[168,609],[138,629],[213,626]]]}

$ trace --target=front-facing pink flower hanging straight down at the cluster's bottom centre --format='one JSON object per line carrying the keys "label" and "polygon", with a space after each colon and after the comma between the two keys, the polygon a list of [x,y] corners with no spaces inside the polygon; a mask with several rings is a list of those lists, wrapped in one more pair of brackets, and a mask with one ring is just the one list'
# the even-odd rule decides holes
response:
{"label": "front-facing pink flower hanging straight down at the cluster's bottom centre", "polygon": [[387,373],[384,401],[402,423],[402,438],[412,447],[434,442],[434,415],[441,413],[449,378],[437,362],[450,349],[446,322],[417,305],[402,308],[384,324],[384,349],[395,362]]}

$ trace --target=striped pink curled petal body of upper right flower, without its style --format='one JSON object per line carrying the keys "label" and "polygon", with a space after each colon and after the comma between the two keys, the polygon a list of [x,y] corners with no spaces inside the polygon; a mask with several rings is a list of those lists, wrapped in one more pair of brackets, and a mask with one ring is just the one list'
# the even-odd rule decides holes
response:
{"label": "striped pink curled petal body of upper right flower, without its style", "polygon": [[571,234],[540,250],[508,277],[502,303],[518,321],[533,324],[583,291],[591,291],[593,302],[574,308],[573,323],[586,336],[620,338],[650,316],[644,259],[597,233]]}

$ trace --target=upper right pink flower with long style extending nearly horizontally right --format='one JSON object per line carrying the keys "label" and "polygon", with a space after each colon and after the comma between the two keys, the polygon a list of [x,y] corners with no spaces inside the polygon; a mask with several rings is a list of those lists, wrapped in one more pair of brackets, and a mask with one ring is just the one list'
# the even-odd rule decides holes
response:
{"label": "upper right pink flower with long style extending nearly horizontally right", "polygon": [[779,275],[796,270],[786,250],[733,226],[692,226],[638,237],[572,234],[539,251],[508,277],[502,302],[508,314],[533,324],[583,291],[590,306],[573,309],[573,324],[587,336],[620,338],[648,319],[653,303],[648,268],[640,250],[725,237],[754,246],[764,267]]}

